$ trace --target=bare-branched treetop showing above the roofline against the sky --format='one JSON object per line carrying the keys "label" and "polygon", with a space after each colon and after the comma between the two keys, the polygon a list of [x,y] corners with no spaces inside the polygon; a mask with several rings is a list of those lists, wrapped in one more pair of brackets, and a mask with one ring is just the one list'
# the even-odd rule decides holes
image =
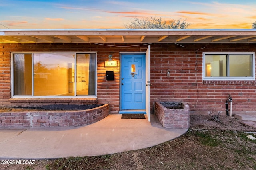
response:
{"label": "bare-branched treetop showing above the roofline against the sky", "polygon": [[126,28],[135,28],[135,29],[184,29],[190,24],[186,23],[185,20],[170,20],[162,21],[162,18],[150,17],[150,18],[134,18],[134,21],[125,24]]}

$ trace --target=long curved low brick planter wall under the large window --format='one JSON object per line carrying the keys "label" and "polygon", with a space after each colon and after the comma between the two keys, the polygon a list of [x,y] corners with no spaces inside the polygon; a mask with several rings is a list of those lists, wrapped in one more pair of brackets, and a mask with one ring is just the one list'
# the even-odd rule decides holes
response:
{"label": "long curved low brick planter wall under the large window", "polygon": [[0,127],[75,127],[104,119],[110,104],[79,111],[22,111],[0,113]]}

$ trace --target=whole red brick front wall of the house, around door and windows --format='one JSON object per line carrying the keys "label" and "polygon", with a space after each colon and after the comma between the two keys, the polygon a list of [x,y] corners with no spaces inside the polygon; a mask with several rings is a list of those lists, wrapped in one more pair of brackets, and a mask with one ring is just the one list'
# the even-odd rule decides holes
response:
{"label": "whole red brick front wall of the house, around door and windows", "polygon": [[[110,45],[110,44],[108,44]],[[146,52],[147,45],[111,44],[0,44],[0,105],[10,105],[10,53],[14,51],[96,51],[97,52],[97,101],[110,103],[111,113],[119,111],[119,52]],[[129,45],[129,47],[116,47]],[[138,45],[138,44],[136,44]],[[184,47],[182,47],[182,46]],[[256,111],[255,81],[203,81],[202,52],[206,51],[250,51],[254,44],[151,44],[150,55],[150,106],[153,113],[155,101],[187,102],[190,113],[207,113],[217,109],[225,113],[228,94],[233,98],[233,113],[254,113]],[[203,49],[201,49],[203,48]],[[199,50],[198,50],[199,49]],[[196,57],[197,52],[197,57]],[[118,67],[106,68],[108,55],[118,61]],[[106,80],[106,70],[114,70],[114,81]],[[170,76],[167,77],[167,71]]]}

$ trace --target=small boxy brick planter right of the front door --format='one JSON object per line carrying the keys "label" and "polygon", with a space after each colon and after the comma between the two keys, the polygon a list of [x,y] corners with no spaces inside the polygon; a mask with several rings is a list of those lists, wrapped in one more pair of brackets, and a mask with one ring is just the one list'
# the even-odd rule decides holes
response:
{"label": "small boxy brick planter right of the front door", "polygon": [[182,109],[168,109],[161,103],[163,102],[155,102],[154,113],[163,127],[182,129],[189,128],[189,106],[187,103],[182,102]]}

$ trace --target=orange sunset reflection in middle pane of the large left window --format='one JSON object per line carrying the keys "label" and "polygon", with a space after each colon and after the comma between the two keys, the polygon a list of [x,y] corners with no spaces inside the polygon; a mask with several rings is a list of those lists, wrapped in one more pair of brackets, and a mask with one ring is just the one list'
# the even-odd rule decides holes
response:
{"label": "orange sunset reflection in middle pane of the large left window", "polygon": [[74,55],[34,54],[34,95],[53,96],[68,93],[68,67]]}

